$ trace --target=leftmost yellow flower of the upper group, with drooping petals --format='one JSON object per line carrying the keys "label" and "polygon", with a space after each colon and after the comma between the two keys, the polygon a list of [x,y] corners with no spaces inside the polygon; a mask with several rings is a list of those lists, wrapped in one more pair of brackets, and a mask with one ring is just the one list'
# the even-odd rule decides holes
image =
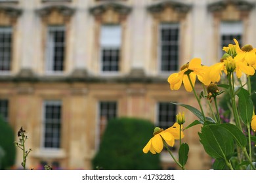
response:
{"label": "leftmost yellow flower of the upper group, with drooping petals", "polygon": [[[173,73],[168,77],[171,90],[179,90],[183,82],[186,91],[192,92],[192,86],[195,86],[196,76],[198,76],[198,79],[203,82],[203,84],[207,85],[209,81],[207,77],[205,77],[206,69],[206,66],[201,65],[200,58],[192,59],[189,63],[182,65],[179,73]],[[190,76],[192,86],[190,85],[188,75]]]}

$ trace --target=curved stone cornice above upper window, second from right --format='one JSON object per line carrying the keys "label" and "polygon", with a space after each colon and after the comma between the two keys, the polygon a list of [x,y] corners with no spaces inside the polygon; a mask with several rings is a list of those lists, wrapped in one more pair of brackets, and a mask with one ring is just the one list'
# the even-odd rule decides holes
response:
{"label": "curved stone cornice above upper window, second from right", "polygon": [[178,1],[168,0],[168,1],[161,1],[160,3],[154,3],[148,6],[148,11],[152,13],[158,13],[164,10],[165,7],[172,7],[175,11],[181,13],[187,13],[191,5],[187,5],[185,3],[180,3]]}

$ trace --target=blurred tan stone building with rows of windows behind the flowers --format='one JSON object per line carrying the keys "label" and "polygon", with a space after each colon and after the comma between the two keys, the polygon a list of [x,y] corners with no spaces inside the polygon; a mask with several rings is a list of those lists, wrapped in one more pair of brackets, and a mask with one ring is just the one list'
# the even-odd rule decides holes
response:
{"label": "blurred tan stone building with rows of windows behind the flowers", "polygon": [[[219,60],[232,42],[256,46],[255,0],[0,0],[0,112],[28,131],[28,166],[91,169],[110,118],[169,127],[171,102],[198,107],[167,77],[192,58]],[[201,85],[196,86],[198,91]],[[185,132],[187,169],[209,169],[198,127]],[[22,161],[18,151],[16,165]],[[175,169],[161,153],[163,169]]]}

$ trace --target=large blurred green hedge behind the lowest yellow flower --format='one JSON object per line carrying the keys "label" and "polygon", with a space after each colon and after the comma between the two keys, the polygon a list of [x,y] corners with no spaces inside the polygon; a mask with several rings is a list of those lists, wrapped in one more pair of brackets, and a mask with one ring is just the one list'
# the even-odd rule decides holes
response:
{"label": "large blurred green hedge behind the lowest yellow flower", "polygon": [[138,118],[110,120],[93,159],[95,169],[160,169],[159,154],[144,154],[142,148],[152,137],[154,125]]}

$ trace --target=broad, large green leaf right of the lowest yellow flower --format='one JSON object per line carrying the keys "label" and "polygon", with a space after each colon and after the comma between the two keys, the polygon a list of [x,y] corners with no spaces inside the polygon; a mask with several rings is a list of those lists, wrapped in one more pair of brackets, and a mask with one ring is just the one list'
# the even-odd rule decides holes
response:
{"label": "broad, large green leaf right of the lowest yellow flower", "polygon": [[219,127],[219,125],[205,125],[198,135],[205,152],[212,158],[226,159],[227,156],[234,152],[232,136],[226,129]]}

